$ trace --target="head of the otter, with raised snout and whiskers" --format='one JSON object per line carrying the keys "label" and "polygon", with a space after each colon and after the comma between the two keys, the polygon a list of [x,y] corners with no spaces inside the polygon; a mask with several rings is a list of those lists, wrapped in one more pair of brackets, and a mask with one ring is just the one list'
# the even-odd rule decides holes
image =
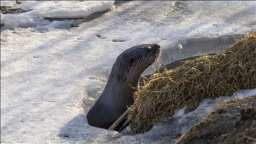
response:
{"label": "head of the otter, with raised snout and whiskers", "polygon": [[123,51],[113,65],[111,76],[125,82],[137,83],[141,73],[149,67],[161,53],[158,44],[144,44]]}

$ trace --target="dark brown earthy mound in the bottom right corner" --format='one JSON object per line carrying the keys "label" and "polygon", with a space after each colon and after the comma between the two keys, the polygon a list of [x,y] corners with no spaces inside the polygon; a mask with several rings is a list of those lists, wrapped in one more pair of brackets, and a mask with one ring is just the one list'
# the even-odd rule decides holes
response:
{"label": "dark brown earthy mound in the bottom right corner", "polygon": [[256,95],[217,105],[178,143],[256,143]]}

